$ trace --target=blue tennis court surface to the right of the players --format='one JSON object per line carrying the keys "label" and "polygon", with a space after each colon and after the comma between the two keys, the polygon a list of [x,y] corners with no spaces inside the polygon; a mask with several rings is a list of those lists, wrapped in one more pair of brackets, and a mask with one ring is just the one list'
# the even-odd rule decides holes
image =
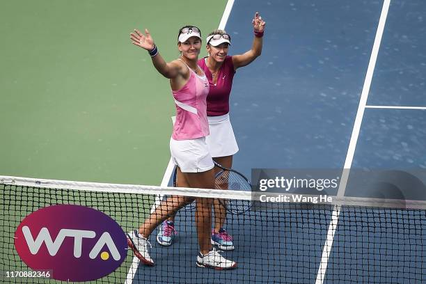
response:
{"label": "blue tennis court surface to the right of the players", "polygon": [[[252,168],[411,170],[418,189],[398,193],[426,201],[426,3],[235,1],[226,22],[230,54],[251,46],[256,10],[267,29],[262,56],[235,76],[230,116],[240,150],[233,167],[248,176]],[[384,197],[346,182],[338,194]],[[239,267],[212,274],[195,265],[194,212],[182,210],[176,244],[152,238],[157,264],[140,265],[133,283],[425,281],[425,211],[342,207],[335,228],[333,207],[276,212],[228,214],[236,249],[226,256]],[[416,221],[400,226],[405,214]]]}

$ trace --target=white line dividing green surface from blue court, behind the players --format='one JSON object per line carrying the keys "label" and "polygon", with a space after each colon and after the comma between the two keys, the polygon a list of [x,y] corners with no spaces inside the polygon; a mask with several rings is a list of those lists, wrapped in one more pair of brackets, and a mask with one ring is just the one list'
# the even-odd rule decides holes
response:
{"label": "white line dividing green surface from blue court, behind the players", "polygon": [[[225,29],[230,12],[232,10],[232,6],[234,6],[234,0],[228,0],[228,3],[226,3],[225,10],[223,11],[223,15],[221,18],[221,22],[219,23],[218,29]],[[171,178],[173,169],[174,169],[174,164],[172,159],[170,159],[168,161],[168,165],[166,168],[166,172],[164,173],[163,180],[161,181],[161,187],[166,187],[168,185],[168,181]],[[162,199],[163,199],[163,195],[157,195],[155,197],[155,203],[154,205],[152,205],[151,213],[154,212],[155,208],[159,205]],[[130,267],[129,272],[127,272],[127,278],[126,278],[125,284],[133,283],[134,274],[136,274],[138,267],[139,267],[139,258],[136,258],[135,256],[132,260],[132,266]]]}

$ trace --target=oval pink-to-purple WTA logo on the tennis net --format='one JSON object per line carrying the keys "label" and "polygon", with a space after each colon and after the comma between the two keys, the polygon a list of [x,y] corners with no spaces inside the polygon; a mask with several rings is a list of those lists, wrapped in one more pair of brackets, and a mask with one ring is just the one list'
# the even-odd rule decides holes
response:
{"label": "oval pink-to-purple WTA logo on the tennis net", "polygon": [[29,214],[15,232],[15,248],[34,270],[61,281],[92,281],[125,260],[125,232],[103,212],[79,205],[53,205]]}

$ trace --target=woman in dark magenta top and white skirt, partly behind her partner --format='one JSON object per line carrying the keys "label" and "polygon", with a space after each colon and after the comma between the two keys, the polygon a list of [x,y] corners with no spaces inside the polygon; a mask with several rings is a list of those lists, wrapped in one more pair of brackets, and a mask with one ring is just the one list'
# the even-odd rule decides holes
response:
{"label": "woman in dark magenta top and white skirt, partly behind her partner", "polygon": [[[238,152],[232,125],[229,118],[229,97],[232,88],[232,79],[238,68],[250,64],[262,53],[263,33],[265,21],[259,13],[255,13],[253,24],[253,45],[244,54],[228,56],[230,35],[223,30],[215,30],[207,36],[207,52],[209,56],[198,60],[198,65],[205,72],[210,84],[207,96],[207,120],[210,135],[206,137],[207,148],[214,161],[226,168],[232,168],[232,156]],[[219,168],[214,168],[219,171]],[[216,172],[215,172],[216,173]],[[178,173],[178,186],[188,187],[184,177]],[[223,251],[234,249],[232,237],[224,228],[226,210],[221,203],[214,200],[214,229],[212,230],[212,244]],[[174,216],[161,224],[157,242],[170,245],[173,241]]]}

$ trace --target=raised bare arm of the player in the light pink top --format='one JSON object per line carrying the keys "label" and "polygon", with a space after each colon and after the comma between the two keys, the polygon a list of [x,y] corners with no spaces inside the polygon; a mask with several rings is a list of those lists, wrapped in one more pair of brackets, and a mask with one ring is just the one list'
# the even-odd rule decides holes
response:
{"label": "raised bare arm of the player in the light pink top", "polygon": [[[157,48],[155,47],[154,40],[152,39],[148,29],[145,29],[145,35],[143,35],[141,31],[135,29],[134,33],[130,33],[130,39],[134,45],[148,50],[148,52],[151,52],[153,49]],[[179,64],[176,61],[167,63],[159,53],[157,53],[155,56],[151,56],[151,59],[155,69],[157,69],[161,75],[168,79],[175,79],[182,72],[182,64]]]}

